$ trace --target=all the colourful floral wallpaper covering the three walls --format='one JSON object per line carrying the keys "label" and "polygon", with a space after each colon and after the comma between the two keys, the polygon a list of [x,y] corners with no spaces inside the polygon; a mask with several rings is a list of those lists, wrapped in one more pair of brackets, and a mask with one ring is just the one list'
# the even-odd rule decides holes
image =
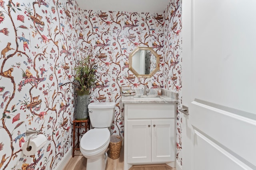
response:
{"label": "all the colourful floral wallpaper covering the three walls", "polygon": [[[121,86],[181,92],[181,27],[180,0],[171,0],[161,14],[82,10],[74,0],[0,0],[0,169],[54,169],[72,147],[76,99],[68,82],[75,61],[90,49],[98,63],[90,102],[116,102],[112,134],[124,135]],[[160,56],[151,78],[136,78],[128,69],[138,46]],[[180,113],[177,119],[182,163]],[[28,128],[47,137],[32,156],[21,150]]]}

